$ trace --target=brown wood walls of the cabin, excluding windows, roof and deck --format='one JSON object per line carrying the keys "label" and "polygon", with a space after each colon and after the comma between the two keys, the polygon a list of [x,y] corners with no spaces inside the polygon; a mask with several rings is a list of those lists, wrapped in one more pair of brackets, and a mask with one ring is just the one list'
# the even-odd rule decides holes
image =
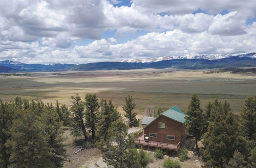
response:
{"label": "brown wood walls of the cabin, excluding windows, roof and deck", "polygon": [[[159,128],[159,122],[165,123],[165,128]],[[150,133],[157,133],[157,137],[151,137]],[[144,135],[149,136],[153,142],[182,145],[186,139],[185,125],[162,115],[144,128]],[[167,139],[167,135],[175,136],[175,140]]]}

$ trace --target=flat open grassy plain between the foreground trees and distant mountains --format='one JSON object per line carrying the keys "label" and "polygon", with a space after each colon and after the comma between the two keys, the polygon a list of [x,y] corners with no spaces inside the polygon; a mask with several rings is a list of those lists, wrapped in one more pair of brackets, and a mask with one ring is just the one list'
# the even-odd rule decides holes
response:
{"label": "flat open grassy plain between the foreground trees and distant mountains", "polygon": [[234,113],[241,110],[247,96],[256,95],[256,75],[250,73],[203,74],[203,71],[177,69],[113,70],[52,73],[32,73],[31,76],[0,76],[0,98],[16,96],[70,105],[76,93],[84,97],[96,93],[112,99],[122,112],[124,98],[132,95],[139,117],[148,105],[168,109],[177,105],[186,111],[190,96],[197,93],[204,107],[215,98],[230,102]]}

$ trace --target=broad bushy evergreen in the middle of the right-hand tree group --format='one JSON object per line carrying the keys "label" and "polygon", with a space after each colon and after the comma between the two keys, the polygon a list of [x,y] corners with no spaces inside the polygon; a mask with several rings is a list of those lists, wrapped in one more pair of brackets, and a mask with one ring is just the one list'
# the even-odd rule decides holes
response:
{"label": "broad bushy evergreen in the middle of the right-hand tree group", "polygon": [[223,115],[225,112],[219,105],[221,103],[216,106],[215,120],[210,122],[202,142],[204,147],[200,150],[206,167],[224,167],[236,150],[243,155],[246,153],[246,141],[239,134],[238,122],[230,111]]}

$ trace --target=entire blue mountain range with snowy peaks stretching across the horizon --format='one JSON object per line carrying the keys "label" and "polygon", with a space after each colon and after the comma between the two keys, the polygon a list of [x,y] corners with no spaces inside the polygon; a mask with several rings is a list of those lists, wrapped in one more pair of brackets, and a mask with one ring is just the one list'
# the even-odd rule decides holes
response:
{"label": "entire blue mountain range with snowy peaks stretching across the horizon", "polygon": [[[224,57],[224,58],[222,58]],[[217,59],[218,58],[218,59]],[[98,62],[88,64],[25,64],[13,61],[0,61],[0,73],[51,72],[82,70],[127,70],[145,68],[210,69],[256,66],[256,53],[237,55],[184,55],[178,58],[159,57],[153,59],[133,59],[121,62]]]}

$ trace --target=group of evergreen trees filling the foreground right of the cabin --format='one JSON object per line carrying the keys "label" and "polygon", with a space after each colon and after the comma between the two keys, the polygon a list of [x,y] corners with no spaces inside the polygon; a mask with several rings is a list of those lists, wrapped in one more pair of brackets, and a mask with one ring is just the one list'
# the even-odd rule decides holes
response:
{"label": "group of evergreen trees filling the foreground right of the cabin", "polygon": [[186,115],[186,129],[195,137],[203,167],[256,167],[256,96],[246,98],[237,118],[227,101],[216,99],[203,110],[194,94]]}

